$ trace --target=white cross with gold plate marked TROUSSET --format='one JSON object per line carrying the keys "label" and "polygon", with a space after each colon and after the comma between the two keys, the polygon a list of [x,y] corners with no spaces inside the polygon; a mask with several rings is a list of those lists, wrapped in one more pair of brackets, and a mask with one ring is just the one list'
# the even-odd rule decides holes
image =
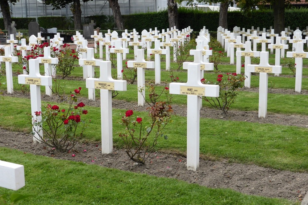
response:
{"label": "white cross with gold plate marked TROUSSET", "polygon": [[111,62],[99,61],[99,78],[87,78],[88,89],[100,89],[102,153],[112,152],[112,90],[126,91],[126,81],[111,77]]}

